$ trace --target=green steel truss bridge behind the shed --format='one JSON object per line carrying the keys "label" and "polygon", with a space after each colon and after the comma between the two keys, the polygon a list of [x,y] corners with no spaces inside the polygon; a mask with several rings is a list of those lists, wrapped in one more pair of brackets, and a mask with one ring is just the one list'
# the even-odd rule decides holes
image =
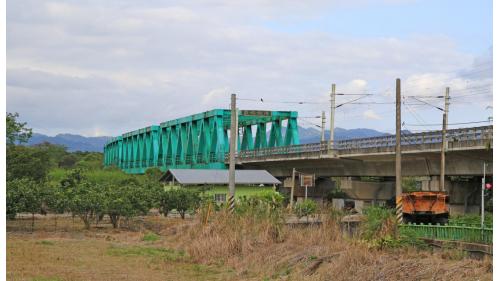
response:
{"label": "green steel truss bridge behind the shed", "polygon": [[[298,145],[297,115],[295,111],[240,110],[238,151]],[[131,174],[150,167],[224,169],[230,120],[230,110],[215,109],[125,133],[106,143],[104,165]]]}

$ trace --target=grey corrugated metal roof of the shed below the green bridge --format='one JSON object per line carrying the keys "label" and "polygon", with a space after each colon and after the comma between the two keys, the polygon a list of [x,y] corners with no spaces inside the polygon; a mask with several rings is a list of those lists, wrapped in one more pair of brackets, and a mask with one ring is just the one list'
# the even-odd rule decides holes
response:
{"label": "grey corrugated metal roof of the shed below the green bridge", "polygon": [[[209,169],[170,169],[161,178],[171,181],[172,178],[180,184],[228,184],[228,170]],[[280,184],[266,170],[236,170],[236,184]]]}

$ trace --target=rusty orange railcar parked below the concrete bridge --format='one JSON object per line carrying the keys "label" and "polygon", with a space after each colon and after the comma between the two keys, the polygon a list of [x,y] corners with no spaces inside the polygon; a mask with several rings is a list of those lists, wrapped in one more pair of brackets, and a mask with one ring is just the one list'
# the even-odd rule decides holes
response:
{"label": "rusty orange railcar parked below the concrete bridge", "polygon": [[444,192],[418,191],[403,193],[403,220],[405,222],[447,223],[448,195]]}

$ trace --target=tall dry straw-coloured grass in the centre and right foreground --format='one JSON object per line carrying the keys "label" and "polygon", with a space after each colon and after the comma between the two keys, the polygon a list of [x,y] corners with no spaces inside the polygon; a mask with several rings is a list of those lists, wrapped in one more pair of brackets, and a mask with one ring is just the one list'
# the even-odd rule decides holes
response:
{"label": "tall dry straw-coloured grass in the centre and right foreground", "polygon": [[[264,212],[265,213],[265,212]],[[377,236],[393,232],[384,221]],[[338,217],[319,226],[285,226],[283,214],[214,214],[179,234],[196,261],[224,264],[240,279],[491,280],[491,259],[454,259],[416,248],[379,249],[342,233]]]}

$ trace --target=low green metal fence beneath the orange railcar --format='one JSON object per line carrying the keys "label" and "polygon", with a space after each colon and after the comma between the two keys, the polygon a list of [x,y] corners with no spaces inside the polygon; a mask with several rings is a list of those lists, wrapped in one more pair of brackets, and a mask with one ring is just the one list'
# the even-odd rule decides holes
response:
{"label": "low green metal fence beneath the orange railcar", "polygon": [[463,225],[401,224],[401,233],[412,233],[418,238],[492,244],[493,228]]}

